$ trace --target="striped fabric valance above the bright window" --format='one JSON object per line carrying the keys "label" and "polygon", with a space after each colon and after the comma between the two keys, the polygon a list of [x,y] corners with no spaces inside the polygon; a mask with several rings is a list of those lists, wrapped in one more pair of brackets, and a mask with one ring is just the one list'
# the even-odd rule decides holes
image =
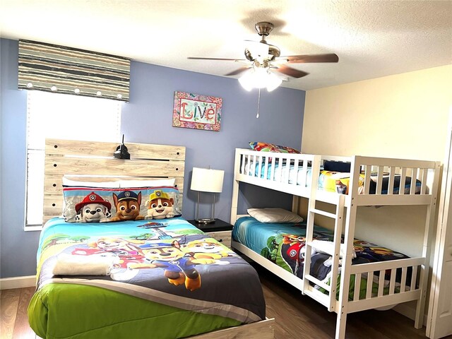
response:
{"label": "striped fabric valance above the bright window", "polygon": [[19,88],[129,101],[130,59],[19,40]]}

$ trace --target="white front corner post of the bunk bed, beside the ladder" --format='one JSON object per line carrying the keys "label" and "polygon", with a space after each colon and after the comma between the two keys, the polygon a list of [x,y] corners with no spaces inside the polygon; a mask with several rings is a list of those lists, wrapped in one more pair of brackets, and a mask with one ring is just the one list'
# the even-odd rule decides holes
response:
{"label": "white front corner post of the bunk bed, beside the ladder", "polygon": [[[350,270],[352,268],[352,249],[353,239],[355,238],[355,223],[357,206],[355,203],[355,196],[358,194],[358,187],[355,183],[358,183],[359,177],[359,157],[355,156],[352,159],[352,168],[350,172],[350,186],[346,199],[349,199],[347,207],[347,217],[345,220],[344,230],[344,245],[347,249],[345,257],[343,257],[342,269],[340,272],[340,286],[350,286]],[[333,284],[334,282],[331,282]],[[348,302],[348,289],[340,288],[339,303],[338,303],[338,318],[336,320],[336,339],[345,338],[345,326],[347,325],[347,302]]]}

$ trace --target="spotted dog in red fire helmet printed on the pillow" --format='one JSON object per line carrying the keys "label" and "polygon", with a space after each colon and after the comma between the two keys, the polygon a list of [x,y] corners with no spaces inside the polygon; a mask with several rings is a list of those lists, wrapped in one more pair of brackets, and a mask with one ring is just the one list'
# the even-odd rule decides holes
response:
{"label": "spotted dog in red fire helmet printed on the pillow", "polygon": [[111,208],[111,203],[91,192],[76,204],[76,222],[100,222],[108,219],[112,215]]}

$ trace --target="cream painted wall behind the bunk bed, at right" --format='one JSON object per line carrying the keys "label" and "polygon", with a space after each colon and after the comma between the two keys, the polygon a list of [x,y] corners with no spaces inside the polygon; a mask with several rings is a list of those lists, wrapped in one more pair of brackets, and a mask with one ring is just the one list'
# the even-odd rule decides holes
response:
{"label": "cream painted wall behind the bunk bed, at right", "polygon": [[[451,107],[452,65],[309,90],[302,152],[443,161]],[[360,208],[356,235],[416,256],[423,219],[422,208]]]}

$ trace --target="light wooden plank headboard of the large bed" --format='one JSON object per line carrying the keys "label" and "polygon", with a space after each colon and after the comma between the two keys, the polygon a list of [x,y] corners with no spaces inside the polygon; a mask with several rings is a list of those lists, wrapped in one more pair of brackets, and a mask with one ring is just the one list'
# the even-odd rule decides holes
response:
{"label": "light wooden plank headboard of the large bed", "polygon": [[175,178],[184,190],[185,147],[126,143],[130,160],[113,157],[119,143],[46,139],[43,225],[63,211],[63,177],[90,182]]}

